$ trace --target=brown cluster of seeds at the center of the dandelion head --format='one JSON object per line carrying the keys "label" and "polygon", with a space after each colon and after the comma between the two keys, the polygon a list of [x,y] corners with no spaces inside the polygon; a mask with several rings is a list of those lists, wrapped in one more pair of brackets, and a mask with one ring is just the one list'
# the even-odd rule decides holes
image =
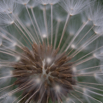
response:
{"label": "brown cluster of seeds at the center of the dandelion head", "polygon": [[23,91],[24,94],[29,93],[30,97],[38,91],[37,95],[34,95],[34,101],[37,102],[38,95],[40,97],[41,92],[45,90],[46,98],[54,100],[54,94],[56,101],[56,93],[62,92],[62,89],[66,90],[62,92],[65,96],[73,90],[75,80],[71,69],[73,63],[70,62],[72,58],[65,52],[60,54],[59,49],[54,50],[52,46],[46,46],[44,43],[34,43],[32,50],[25,47],[23,51],[20,60],[13,64],[13,74],[17,75],[15,85],[28,86],[28,89]]}

